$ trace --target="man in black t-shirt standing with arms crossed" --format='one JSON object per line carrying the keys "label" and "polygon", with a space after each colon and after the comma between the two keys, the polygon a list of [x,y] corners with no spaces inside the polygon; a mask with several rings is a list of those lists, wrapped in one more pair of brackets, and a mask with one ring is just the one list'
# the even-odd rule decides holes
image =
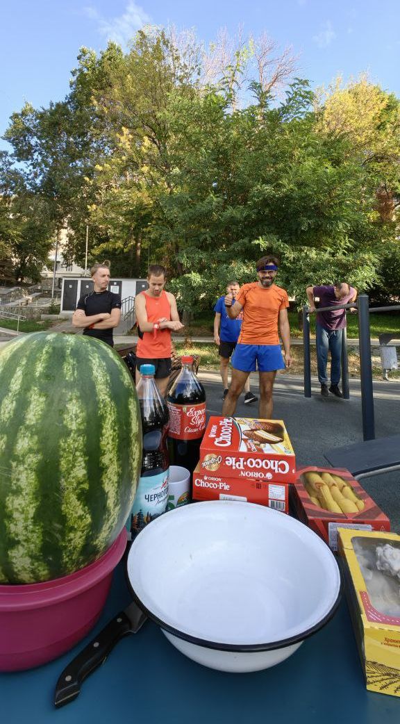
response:
{"label": "man in black t-shirt standing with arms crossed", "polygon": [[93,292],[83,295],[72,316],[72,324],[83,329],[83,334],[95,337],[114,347],[113,329],[121,319],[121,297],[108,292],[110,269],[106,264],[95,264],[90,269]]}

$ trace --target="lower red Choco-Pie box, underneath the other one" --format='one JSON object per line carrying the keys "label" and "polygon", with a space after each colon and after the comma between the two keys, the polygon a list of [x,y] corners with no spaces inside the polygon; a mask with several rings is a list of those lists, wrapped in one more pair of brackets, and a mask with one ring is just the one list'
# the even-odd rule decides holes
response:
{"label": "lower red Choco-Pie box, underneath the other one", "polygon": [[264,479],[219,477],[218,473],[200,471],[200,464],[192,476],[193,500],[242,500],[268,505],[269,508],[289,513],[289,485]]}

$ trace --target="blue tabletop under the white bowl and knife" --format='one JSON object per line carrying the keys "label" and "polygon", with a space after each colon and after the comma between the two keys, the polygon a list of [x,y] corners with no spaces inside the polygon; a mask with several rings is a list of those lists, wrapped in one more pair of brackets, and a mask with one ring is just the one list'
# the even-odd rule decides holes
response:
{"label": "blue tabletop under the white bowl and knife", "polygon": [[40,668],[0,674],[2,721],[399,722],[400,699],[365,689],[345,599],[334,618],[289,659],[250,674],[223,673],[192,662],[171,646],[155,623],[148,621],[137,634],[117,644],[106,662],[82,684],[75,701],[56,710],[54,686],[61,670],[129,600],[120,564],[101,619],[84,641]]}

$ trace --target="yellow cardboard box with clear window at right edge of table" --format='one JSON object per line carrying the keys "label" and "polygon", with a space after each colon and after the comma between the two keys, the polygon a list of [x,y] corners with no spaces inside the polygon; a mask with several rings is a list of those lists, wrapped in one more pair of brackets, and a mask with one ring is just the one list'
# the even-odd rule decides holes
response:
{"label": "yellow cardboard box with clear window at right edge of table", "polygon": [[400,536],[344,528],[338,535],[367,689],[400,696]]}

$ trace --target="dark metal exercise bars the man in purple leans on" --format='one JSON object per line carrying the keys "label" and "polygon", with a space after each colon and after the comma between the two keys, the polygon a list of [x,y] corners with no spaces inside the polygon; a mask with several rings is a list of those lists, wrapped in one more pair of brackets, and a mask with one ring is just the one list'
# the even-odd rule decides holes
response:
{"label": "dark metal exercise bars the man in purple leans on", "polygon": [[[373,364],[371,358],[371,332],[370,314],[375,312],[397,311],[400,305],[386,307],[371,307],[367,294],[360,294],[357,302],[351,304],[338,304],[331,307],[320,307],[310,312],[308,306],[302,310],[303,316],[303,361],[304,361],[304,394],[311,397],[311,355],[310,355],[310,314],[334,309],[358,310],[358,337],[359,337],[359,369],[361,376],[361,405],[362,405],[362,432],[365,440],[375,439],[375,412],[373,398]],[[347,334],[343,329],[341,344],[341,376],[343,396],[349,400],[349,363],[347,358]]]}

